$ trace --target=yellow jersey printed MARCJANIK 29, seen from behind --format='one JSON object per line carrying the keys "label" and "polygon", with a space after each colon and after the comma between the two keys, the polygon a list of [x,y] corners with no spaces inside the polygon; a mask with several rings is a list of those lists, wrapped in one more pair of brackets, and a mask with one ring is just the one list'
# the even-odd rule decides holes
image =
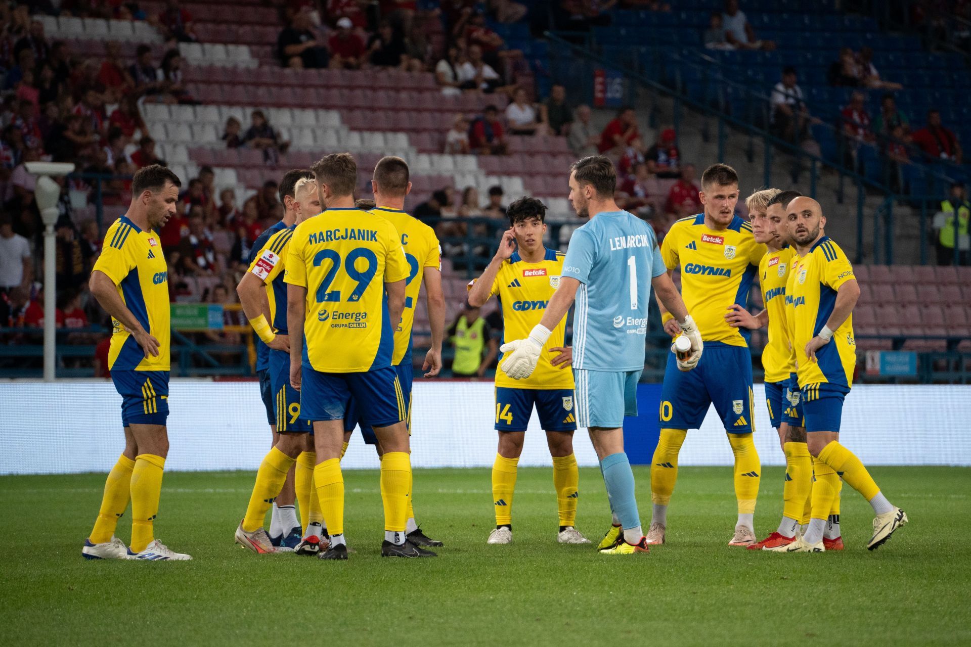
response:
{"label": "yellow jersey printed MARCJANIK 29, seen from behind", "polygon": [[391,366],[395,326],[385,283],[408,278],[398,231],[368,211],[328,209],[293,230],[286,283],[307,288],[304,366],[364,372]]}

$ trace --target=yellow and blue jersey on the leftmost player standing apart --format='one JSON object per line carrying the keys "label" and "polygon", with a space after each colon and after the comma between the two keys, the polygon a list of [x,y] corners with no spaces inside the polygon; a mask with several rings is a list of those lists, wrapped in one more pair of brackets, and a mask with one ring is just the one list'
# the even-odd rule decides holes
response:
{"label": "yellow and blue jersey on the leftmost player standing apart", "polygon": [[145,356],[121,322],[112,318],[108,351],[110,371],[168,371],[171,339],[169,273],[158,234],[142,231],[125,216],[108,233],[93,271],[103,272],[117,286],[118,296],[138,322],[158,340],[158,356]]}

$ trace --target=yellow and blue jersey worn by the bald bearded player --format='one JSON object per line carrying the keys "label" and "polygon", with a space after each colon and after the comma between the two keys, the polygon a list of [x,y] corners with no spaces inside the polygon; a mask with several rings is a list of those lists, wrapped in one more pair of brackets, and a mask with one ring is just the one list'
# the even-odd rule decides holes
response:
{"label": "yellow and blue jersey worn by the bald bearded player", "polygon": [[849,391],[856,366],[853,314],[833,331],[833,339],[816,351],[816,362],[806,356],[806,344],[820,334],[833,313],[839,287],[856,279],[850,259],[838,244],[824,236],[799,259],[793,273],[786,301],[791,307],[790,332],[799,386],[804,389],[807,399],[813,388],[818,389],[820,384]]}

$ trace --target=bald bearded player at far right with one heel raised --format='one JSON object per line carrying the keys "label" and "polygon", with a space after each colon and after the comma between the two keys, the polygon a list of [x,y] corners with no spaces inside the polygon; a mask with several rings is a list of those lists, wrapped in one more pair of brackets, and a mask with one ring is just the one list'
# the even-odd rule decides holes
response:
{"label": "bald bearded player at far right with one heel raised", "polygon": [[853,308],[859,285],[846,254],[823,231],[826,219],[820,203],[800,197],[786,211],[789,237],[798,253],[798,268],[786,300],[792,307],[789,326],[816,483],[806,533],[773,550],[825,551],[822,536],[841,474],[876,513],[873,536],[867,543],[873,550],[907,523],[907,515],[887,501],[860,460],[839,441],[843,401],[853,385],[856,365]]}

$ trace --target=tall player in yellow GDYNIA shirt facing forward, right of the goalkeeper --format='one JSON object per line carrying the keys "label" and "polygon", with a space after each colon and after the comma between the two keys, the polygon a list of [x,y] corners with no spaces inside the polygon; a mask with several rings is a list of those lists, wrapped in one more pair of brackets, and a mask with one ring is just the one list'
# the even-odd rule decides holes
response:
{"label": "tall player in yellow GDYNIA shirt facing forward, right of the goalkeeper", "polygon": [[[745,307],[765,245],[755,243],[752,225],[735,215],[738,175],[716,164],[701,177],[704,211],[671,226],[661,243],[668,272],[681,270],[682,296],[701,331],[705,352],[694,371],[679,371],[668,357],[661,389],[660,438],[651,467],[653,516],[649,544],[664,543],[667,506],[678,478],[678,452],[688,429],[697,429],[715,404],[735,456],[738,522],[729,546],[755,541],[753,513],[761,466],[753,442],[752,356],[748,331],[724,318],[734,305]],[[663,305],[664,330],[672,337],[681,328]]]}

